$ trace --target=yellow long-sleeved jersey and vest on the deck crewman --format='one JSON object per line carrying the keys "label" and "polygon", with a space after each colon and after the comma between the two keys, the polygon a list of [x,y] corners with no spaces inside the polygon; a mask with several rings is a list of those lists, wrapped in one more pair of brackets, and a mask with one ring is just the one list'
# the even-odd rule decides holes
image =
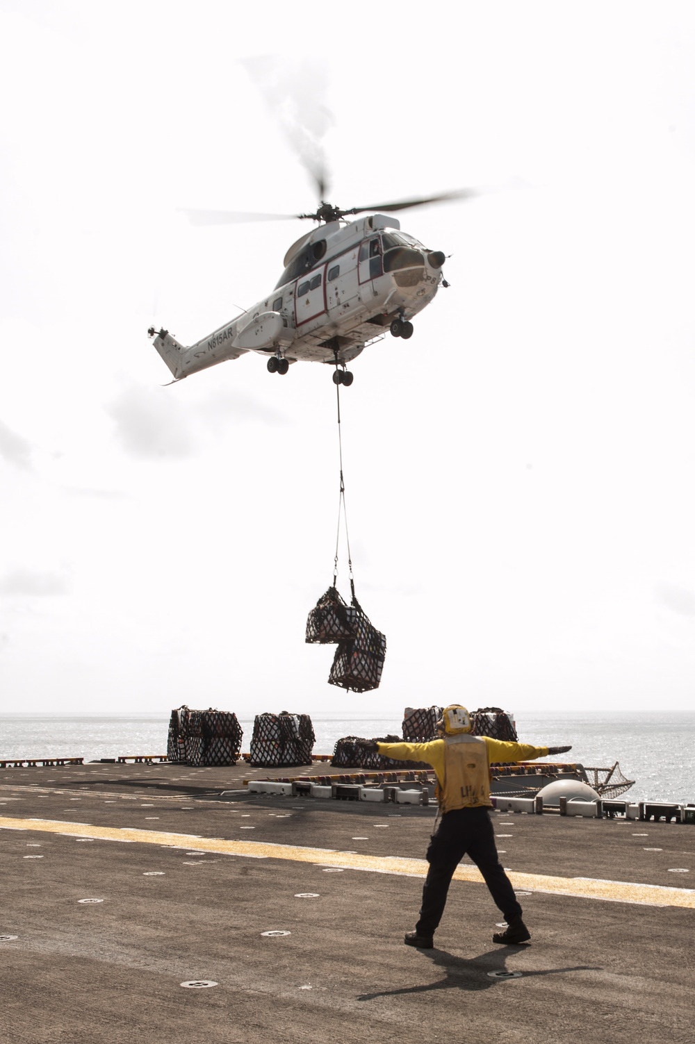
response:
{"label": "yellow long-sleeved jersey and vest on the deck crewman", "polygon": [[455,808],[491,808],[491,762],[533,761],[548,754],[547,746],[508,743],[467,733],[427,743],[379,743],[378,750],[396,761],[426,761],[432,765],[437,774],[437,800],[442,812]]}

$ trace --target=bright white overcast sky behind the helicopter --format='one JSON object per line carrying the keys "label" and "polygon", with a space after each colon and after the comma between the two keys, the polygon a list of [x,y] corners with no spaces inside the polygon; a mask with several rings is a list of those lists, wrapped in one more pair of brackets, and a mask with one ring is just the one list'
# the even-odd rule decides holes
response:
{"label": "bright white overcast sky behind the helicopter", "polygon": [[[182,213],[316,206],[268,54],[330,201],[522,186],[400,215],[450,287],[342,393],[363,696],[304,643],[329,367],[165,387],[146,336],[267,296],[308,231]],[[0,711],[692,708],[693,68],[692,3],[0,0]]]}

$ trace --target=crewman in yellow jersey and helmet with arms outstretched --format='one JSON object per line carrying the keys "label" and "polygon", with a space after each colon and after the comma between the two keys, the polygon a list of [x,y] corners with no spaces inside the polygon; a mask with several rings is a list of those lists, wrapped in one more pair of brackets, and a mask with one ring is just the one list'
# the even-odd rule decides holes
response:
{"label": "crewman in yellow jersey and helmet with arms outstretched", "polygon": [[437,722],[441,739],[426,743],[365,744],[387,758],[398,761],[425,761],[437,775],[437,800],[441,813],[439,829],[427,849],[430,870],[422,888],[422,907],[415,931],[406,935],[408,946],[432,949],[454,871],[468,853],[490,889],[490,895],[507,922],[493,943],[526,943],[531,933],[522,920],[522,907],[514,895],[494,845],[494,832],[488,812],[490,800],[490,762],[530,761],[549,754],[563,754],[570,746],[532,746],[509,743],[489,736],[471,736],[471,721],[465,707],[447,707]]}

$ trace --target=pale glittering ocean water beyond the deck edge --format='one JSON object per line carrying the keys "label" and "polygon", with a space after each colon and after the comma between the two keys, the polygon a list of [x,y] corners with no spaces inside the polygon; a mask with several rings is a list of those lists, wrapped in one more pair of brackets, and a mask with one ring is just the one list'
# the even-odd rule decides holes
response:
{"label": "pale glittering ocean water beyond the deck edge", "polygon": [[[401,735],[401,720],[311,715],[315,754],[332,754],[343,736]],[[249,750],[253,719],[239,718],[242,751]],[[516,715],[522,742],[572,743],[567,760],[609,767],[616,761],[634,780],[633,801],[695,802],[695,712]],[[165,754],[168,715],[0,715],[2,758]]]}

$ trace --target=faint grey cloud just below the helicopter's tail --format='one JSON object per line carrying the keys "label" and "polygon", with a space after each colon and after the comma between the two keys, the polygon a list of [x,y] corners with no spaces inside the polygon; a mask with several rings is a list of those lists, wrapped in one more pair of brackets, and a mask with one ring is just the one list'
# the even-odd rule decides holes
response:
{"label": "faint grey cloud just below the helicopter's tail", "polygon": [[148,459],[191,456],[195,437],[179,400],[159,389],[131,387],[107,406],[128,453]]}

